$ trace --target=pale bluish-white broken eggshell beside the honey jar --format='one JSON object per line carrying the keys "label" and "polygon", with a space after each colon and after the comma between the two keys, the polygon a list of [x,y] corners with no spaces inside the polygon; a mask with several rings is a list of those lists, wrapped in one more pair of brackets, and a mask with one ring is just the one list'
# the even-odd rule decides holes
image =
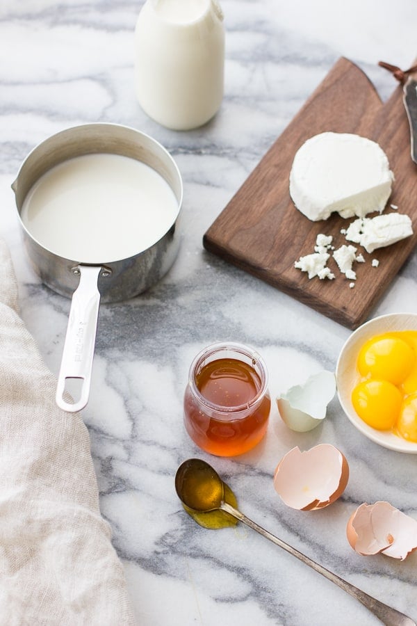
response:
{"label": "pale bluish-white broken eggshell beside the honey jar", "polygon": [[336,378],[332,371],[319,371],[277,397],[281,419],[288,428],[305,433],[316,428],[326,417],[327,405],[336,393]]}

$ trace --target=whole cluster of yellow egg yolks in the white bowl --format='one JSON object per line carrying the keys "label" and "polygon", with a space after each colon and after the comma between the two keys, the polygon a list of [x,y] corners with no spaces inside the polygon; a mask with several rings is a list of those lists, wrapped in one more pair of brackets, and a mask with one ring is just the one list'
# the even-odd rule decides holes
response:
{"label": "whole cluster of yellow egg yolks in the white bowl", "polygon": [[368,339],[357,368],[361,381],[352,392],[357,415],[372,428],[417,442],[417,331]]}

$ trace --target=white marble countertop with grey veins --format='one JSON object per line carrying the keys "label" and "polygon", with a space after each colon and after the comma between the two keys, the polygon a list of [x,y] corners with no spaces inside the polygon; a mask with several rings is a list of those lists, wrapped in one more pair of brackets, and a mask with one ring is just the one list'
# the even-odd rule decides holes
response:
{"label": "white marble countertop with grey veins", "polygon": [[[322,426],[288,431],[274,408],[265,440],[234,460],[210,458],[184,431],[181,402],[196,351],[233,339],[261,351],[272,396],[318,369],[334,369],[349,331],[202,248],[202,236],[336,59],[347,56],[382,97],[377,67],[416,56],[415,0],[222,0],[225,95],[206,127],[174,132],[143,113],[133,92],[133,29],[141,2],[2,0],[0,7],[1,235],[19,279],[22,316],[58,373],[69,300],[40,284],[26,262],[10,184],[31,148],[65,127],[103,120],[151,134],[183,176],[184,236],[177,262],[149,293],[101,307],[91,399],[83,410],[101,511],[126,566],[142,626],[376,625],[329,581],[243,527],[208,531],[184,513],[177,466],[209,460],[240,508],[338,575],[417,620],[417,554],[364,559],[345,538],[350,513],[387,499],[417,517],[416,458],[364,439],[332,401]],[[411,255],[373,315],[417,312]],[[343,497],[324,511],[281,503],[272,474],[283,454],[318,442],[350,463]]]}

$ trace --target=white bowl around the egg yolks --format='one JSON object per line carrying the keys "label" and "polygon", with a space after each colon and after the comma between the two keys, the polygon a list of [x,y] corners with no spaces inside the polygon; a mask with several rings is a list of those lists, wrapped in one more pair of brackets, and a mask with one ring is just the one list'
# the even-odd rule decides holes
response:
{"label": "white bowl around the egg yolks", "polygon": [[336,385],[338,399],[350,422],[368,439],[396,450],[417,454],[417,442],[409,442],[391,431],[377,431],[365,424],[352,405],[352,390],[361,378],[357,370],[357,358],[361,346],[370,337],[393,330],[417,330],[417,314],[392,313],[375,317],[352,332],[343,346],[336,365]]}

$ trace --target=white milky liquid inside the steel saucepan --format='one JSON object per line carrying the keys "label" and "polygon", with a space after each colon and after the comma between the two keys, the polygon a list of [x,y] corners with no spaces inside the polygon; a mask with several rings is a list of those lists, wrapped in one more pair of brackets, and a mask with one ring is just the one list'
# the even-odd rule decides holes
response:
{"label": "white milky liquid inside the steel saucepan", "polygon": [[120,154],[84,154],[46,172],[22,206],[26,230],[60,257],[101,264],[154,245],[179,211],[153,168]]}

